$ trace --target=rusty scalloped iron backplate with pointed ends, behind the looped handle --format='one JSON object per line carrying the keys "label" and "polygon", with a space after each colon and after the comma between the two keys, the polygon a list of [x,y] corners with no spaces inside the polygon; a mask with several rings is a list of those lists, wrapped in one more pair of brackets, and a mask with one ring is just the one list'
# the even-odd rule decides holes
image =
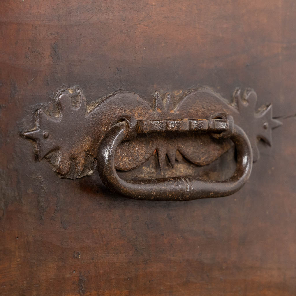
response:
{"label": "rusty scalloped iron backplate with pointed ends, behind the looped handle", "polygon": [[[34,141],[38,160],[47,158],[59,176],[79,178],[96,169],[97,149],[104,135],[124,115],[136,118],[143,134],[119,144],[115,168],[136,168],[155,151],[160,168],[166,156],[174,166],[177,151],[195,165],[207,165],[229,150],[232,142],[217,140],[207,133],[190,132],[200,125],[207,128],[213,124],[211,120],[180,118],[210,118],[222,112],[233,116],[234,122],[246,132],[256,161],[258,140],[271,145],[271,130],[281,123],[272,118],[271,105],[256,111],[257,95],[253,90],[241,95],[237,89],[233,98],[230,103],[210,88],[201,87],[184,92],[175,107],[169,93],[157,91],[152,107],[138,94],[128,91],[112,93],[87,105],[78,87],[61,89],[54,96],[53,107],[36,110],[34,127],[22,135]],[[219,124],[223,125],[223,120]],[[180,126],[188,132],[178,136],[169,132]],[[152,131],[167,132],[153,134]]]}

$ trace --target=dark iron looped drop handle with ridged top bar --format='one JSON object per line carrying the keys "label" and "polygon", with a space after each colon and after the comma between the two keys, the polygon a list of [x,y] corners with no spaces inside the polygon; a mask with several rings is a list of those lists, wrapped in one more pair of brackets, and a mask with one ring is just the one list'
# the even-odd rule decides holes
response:
{"label": "dark iron looped drop handle with ridged top bar", "polygon": [[[110,189],[139,200],[185,201],[223,197],[237,192],[248,180],[252,170],[252,148],[242,128],[229,115],[213,119],[136,120],[123,117],[104,136],[98,152],[99,175]],[[173,177],[125,181],[114,165],[118,144],[138,133],[204,131],[215,138],[231,139],[237,150],[237,167],[225,181],[206,181],[201,178]]]}

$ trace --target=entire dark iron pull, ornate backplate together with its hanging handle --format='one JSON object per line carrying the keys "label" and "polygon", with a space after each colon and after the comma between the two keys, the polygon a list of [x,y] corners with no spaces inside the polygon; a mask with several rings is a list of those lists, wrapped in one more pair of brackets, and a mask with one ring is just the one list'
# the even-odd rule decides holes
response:
{"label": "entire dark iron pull, ornate backplate together with its hanging handle", "polygon": [[[61,89],[53,102],[37,108],[34,128],[22,133],[35,144],[62,178],[81,178],[97,169],[112,191],[142,200],[184,201],[237,192],[259,158],[258,141],[271,145],[271,131],[281,123],[272,106],[256,110],[257,95],[236,89],[228,102],[200,87],[174,98],[155,91],[153,104],[133,92],[118,91],[86,105],[78,87]],[[119,174],[143,165],[157,153],[159,169],[181,156],[191,165],[213,163],[231,147],[236,168],[225,180],[171,176],[126,180]]]}

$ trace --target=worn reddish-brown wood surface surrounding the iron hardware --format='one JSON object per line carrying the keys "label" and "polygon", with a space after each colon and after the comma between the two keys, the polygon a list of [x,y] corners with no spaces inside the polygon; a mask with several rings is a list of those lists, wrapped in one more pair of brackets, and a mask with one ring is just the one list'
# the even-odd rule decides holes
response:
{"label": "worn reddish-brown wood surface surrounding the iron hardware", "polygon": [[[0,14],[0,295],[295,295],[294,0],[3,0]],[[252,87],[283,126],[230,197],[128,200],[97,173],[60,179],[20,136],[73,84],[88,104]]]}

